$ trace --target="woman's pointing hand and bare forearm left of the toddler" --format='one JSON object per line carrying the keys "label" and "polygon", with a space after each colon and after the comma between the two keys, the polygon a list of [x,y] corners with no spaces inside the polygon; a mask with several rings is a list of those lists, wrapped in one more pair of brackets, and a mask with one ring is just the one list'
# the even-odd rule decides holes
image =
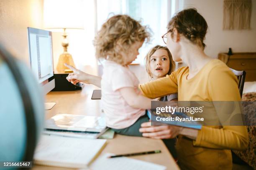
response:
{"label": "woman's pointing hand and bare forearm left of the toddler", "polygon": [[81,70],[72,67],[71,65],[65,64],[65,66],[69,67],[73,71],[67,76],[67,80],[72,84],[75,85],[77,82],[84,82],[86,84],[92,84],[100,87],[101,77],[87,74],[86,72],[82,72]]}

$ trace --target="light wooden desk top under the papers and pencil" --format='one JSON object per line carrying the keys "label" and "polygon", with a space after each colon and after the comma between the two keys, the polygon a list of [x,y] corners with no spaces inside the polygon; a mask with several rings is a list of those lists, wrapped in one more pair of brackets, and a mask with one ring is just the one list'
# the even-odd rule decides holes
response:
{"label": "light wooden desk top under the papers and pencil", "polygon": [[[46,102],[56,102],[56,105],[51,110],[46,110],[46,119],[49,119],[59,112],[79,115],[100,115],[100,100],[91,100],[93,89],[95,89],[94,86],[86,85],[82,91],[49,92],[49,94],[46,95]],[[164,165],[168,170],[179,169],[162,140],[115,134],[114,139],[107,141],[107,145],[102,153],[122,154],[146,150],[161,150],[161,153],[134,156],[132,158]],[[49,167],[47,166],[33,166],[33,170],[48,169]],[[51,167],[51,170],[65,169],[70,168]]]}

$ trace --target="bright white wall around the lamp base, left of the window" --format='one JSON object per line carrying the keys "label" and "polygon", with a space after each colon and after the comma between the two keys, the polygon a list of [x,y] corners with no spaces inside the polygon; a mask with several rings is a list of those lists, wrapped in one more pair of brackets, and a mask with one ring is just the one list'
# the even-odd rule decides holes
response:
{"label": "bright white wall around the lamp base, left of the window", "polygon": [[[82,16],[84,16],[84,29],[83,30],[67,30],[67,39],[69,40],[68,52],[72,55],[75,66],[90,74],[97,75],[97,62],[95,58],[95,51],[92,45],[92,40],[95,36],[95,4],[94,0],[84,0]],[[70,10],[69,12],[72,12]],[[53,31],[53,57],[54,57],[54,70],[59,60],[59,55],[63,52],[62,32]]]}

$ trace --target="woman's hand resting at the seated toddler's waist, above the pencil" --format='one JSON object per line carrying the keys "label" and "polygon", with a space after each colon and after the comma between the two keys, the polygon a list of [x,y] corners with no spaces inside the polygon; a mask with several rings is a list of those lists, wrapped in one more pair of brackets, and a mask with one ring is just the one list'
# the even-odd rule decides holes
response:
{"label": "woman's hand resting at the seated toddler's waist, above the pencil", "polygon": [[162,125],[162,126],[151,126],[151,122],[144,122],[141,124],[139,131],[144,137],[154,139],[169,139],[175,138],[182,131],[180,126]]}

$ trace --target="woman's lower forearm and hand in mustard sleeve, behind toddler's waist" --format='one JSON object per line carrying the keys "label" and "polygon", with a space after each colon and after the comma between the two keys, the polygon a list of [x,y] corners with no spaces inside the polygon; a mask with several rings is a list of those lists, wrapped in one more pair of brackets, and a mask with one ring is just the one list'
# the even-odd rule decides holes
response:
{"label": "woman's lower forearm and hand in mustard sleeve, behind toddler's waist", "polygon": [[245,126],[224,126],[221,129],[202,126],[201,130],[179,126],[151,126],[151,122],[141,124],[139,130],[144,137],[154,139],[175,138],[184,135],[192,140],[193,145],[215,149],[243,150],[248,145]]}

